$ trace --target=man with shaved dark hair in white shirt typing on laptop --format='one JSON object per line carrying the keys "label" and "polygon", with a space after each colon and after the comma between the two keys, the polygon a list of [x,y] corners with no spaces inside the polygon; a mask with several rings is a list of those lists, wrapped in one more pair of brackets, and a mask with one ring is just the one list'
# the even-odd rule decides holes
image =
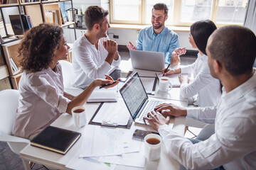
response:
{"label": "man with shaved dark hair in white shirt typing on laptop", "polygon": [[[191,112],[163,104],[145,118],[159,131],[169,154],[186,169],[255,169],[256,74],[252,69],[255,47],[255,34],[247,28],[226,26],[215,30],[208,39],[206,53],[210,74],[223,84],[218,105],[194,108],[197,110]],[[164,118],[158,111],[166,109],[169,111],[163,112]],[[171,115],[215,123],[215,133],[193,144],[193,140],[179,136],[166,125]]]}

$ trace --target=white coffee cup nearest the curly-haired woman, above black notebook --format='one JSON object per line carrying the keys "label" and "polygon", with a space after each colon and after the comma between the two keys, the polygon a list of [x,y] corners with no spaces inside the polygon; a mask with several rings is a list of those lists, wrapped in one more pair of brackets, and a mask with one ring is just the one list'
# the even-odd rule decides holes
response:
{"label": "white coffee cup nearest the curly-haired woman, above black notebook", "polygon": [[86,125],[85,107],[76,106],[71,110],[74,124],[77,128],[81,128]]}

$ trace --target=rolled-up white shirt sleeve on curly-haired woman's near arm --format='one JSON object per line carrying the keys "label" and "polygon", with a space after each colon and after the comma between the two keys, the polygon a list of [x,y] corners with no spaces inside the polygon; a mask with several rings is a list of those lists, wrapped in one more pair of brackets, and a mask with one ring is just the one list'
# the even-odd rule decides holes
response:
{"label": "rolled-up white shirt sleeve on curly-haired woman's near arm", "polygon": [[42,98],[43,101],[46,101],[50,106],[56,108],[60,113],[65,113],[70,100],[58,93],[55,86],[51,85],[49,82],[52,79],[48,77],[48,74],[33,74],[33,77],[28,79],[28,86],[36,95]]}

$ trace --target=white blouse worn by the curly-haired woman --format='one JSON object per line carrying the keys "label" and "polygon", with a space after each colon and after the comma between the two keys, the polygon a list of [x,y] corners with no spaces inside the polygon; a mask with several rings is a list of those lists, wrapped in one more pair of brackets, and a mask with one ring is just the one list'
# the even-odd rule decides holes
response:
{"label": "white blouse worn by the curly-haired woman", "polygon": [[18,84],[20,93],[18,110],[14,120],[13,134],[28,138],[41,132],[65,113],[70,100],[63,96],[63,74],[60,64],[56,71],[43,69],[40,72],[23,71]]}

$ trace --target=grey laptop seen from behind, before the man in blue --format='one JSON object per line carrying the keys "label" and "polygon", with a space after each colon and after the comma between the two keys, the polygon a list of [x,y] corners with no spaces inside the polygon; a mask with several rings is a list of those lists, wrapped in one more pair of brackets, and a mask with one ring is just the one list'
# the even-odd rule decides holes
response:
{"label": "grey laptop seen from behind, before the man in blue", "polygon": [[164,52],[129,50],[134,69],[147,69],[161,72],[164,69]]}

